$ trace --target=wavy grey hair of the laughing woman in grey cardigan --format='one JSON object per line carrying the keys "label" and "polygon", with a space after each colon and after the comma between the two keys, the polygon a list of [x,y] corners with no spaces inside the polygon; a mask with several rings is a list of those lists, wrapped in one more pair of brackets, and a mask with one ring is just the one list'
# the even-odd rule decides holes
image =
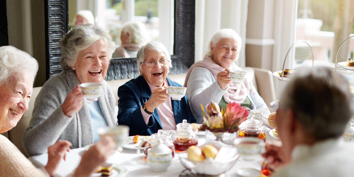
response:
{"label": "wavy grey hair of the laughing woman in grey cardigan", "polygon": [[107,57],[112,59],[115,51],[115,43],[112,37],[103,28],[92,25],[74,25],[59,41],[62,49],[60,65],[64,71],[73,71],[71,66],[75,65],[79,52],[91,46],[98,40],[103,40],[107,47]]}

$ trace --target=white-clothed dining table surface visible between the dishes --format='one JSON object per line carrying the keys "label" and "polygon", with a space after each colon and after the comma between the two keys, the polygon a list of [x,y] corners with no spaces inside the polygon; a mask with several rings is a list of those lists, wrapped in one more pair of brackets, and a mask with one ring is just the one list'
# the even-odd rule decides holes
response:
{"label": "white-clothed dining table surface visible between the dishes", "polygon": [[[274,137],[270,136],[269,131],[271,131],[268,127],[265,127],[264,132],[266,135],[267,141],[276,141]],[[198,135],[198,145],[204,144],[206,141],[205,135]],[[56,177],[71,177],[73,172],[78,167],[81,155],[85,153],[87,148],[76,148],[70,149],[70,152],[66,152],[66,160],[62,160],[59,164]],[[129,176],[129,177],[178,177],[186,168],[181,164],[180,159],[178,157],[178,153],[174,156],[171,165],[164,172],[154,172],[150,170],[149,165],[146,160],[140,155],[137,154],[136,149],[127,149],[121,148],[121,151],[115,150],[112,155],[110,155],[107,159],[107,163],[123,166],[126,169],[125,174],[116,175],[119,177]],[[48,154],[41,154],[32,156],[29,158],[32,163],[37,167],[43,167],[47,164]],[[241,168],[252,168],[256,170],[261,170],[261,164],[264,158],[261,155],[257,156],[254,160],[244,160],[242,158],[238,158],[235,165],[224,173],[222,176],[232,176],[238,177],[236,171]],[[187,175],[188,176],[188,175]],[[114,176],[113,176],[114,177]]]}

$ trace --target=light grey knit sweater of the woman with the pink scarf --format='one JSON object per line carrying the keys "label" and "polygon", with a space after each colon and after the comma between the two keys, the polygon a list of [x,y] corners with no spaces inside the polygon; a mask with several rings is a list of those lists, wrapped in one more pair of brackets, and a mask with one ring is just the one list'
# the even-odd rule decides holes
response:
{"label": "light grey knit sweater of the woman with the pink scarf", "polygon": [[[203,122],[203,115],[200,103],[204,106],[214,101],[219,103],[225,90],[222,90],[218,81],[214,78],[209,69],[204,67],[195,67],[189,75],[187,82],[187,97],[192,113],[198,123]],[[247,96],[251,100],[251,109],[267,108],[267,104],[258,93],[250,93]]]}

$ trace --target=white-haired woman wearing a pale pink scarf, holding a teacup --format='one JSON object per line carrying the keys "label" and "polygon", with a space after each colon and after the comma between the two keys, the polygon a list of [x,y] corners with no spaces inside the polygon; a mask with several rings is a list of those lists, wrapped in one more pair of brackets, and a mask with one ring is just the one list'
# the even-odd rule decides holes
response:
{"label": "white-haired woman wearing a pale pink scarf, holding a teacup", "polygon": [[210,101],[224,109],[233,101],[252,110],[267,108],[250,80],[234,84],[229,77],[230,70],[242,70],[234,63],[241,44],[240,36],[233,29],[221,29],[211,38],[204,60],[189,68],[184,86],[187,86],[190,107],[199,123],[203,121],[200,104]]}

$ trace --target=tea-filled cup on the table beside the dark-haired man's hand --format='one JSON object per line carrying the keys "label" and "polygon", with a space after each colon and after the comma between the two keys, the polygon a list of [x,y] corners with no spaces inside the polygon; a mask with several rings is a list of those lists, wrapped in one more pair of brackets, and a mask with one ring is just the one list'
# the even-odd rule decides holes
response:
{"label": "tea-filled cup on the table beside the dark-haired man's hand", "polygon": [[240,156],[245,160],[253,160],[263,152],[265,145],[263,139],[256,137],[236,138],[234,145],[237,147]]}

